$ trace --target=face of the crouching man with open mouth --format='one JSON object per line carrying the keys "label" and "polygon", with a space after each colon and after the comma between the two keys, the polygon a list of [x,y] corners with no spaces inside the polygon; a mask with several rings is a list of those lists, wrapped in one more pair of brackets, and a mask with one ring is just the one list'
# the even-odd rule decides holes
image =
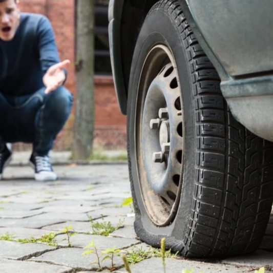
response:
{"label": "face of the crouching man with open mouth", "polygon": [[20,22],[20,10],[14,0],[0,2],[0,39],[13,39]]}

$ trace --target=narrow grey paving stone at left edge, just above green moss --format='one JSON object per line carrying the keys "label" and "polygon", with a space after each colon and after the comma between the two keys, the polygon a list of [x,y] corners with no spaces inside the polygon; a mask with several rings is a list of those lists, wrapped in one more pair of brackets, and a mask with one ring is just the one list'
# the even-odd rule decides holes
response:
{"label": "narrow grey paving stone at left edge, just above green moss", "polygon": [[24,227],[0,227],[0,235],[9,233],[10,235],[13,235],[15,239],[38,238],[45,234],[49,234],[50,232],[53,231]]}

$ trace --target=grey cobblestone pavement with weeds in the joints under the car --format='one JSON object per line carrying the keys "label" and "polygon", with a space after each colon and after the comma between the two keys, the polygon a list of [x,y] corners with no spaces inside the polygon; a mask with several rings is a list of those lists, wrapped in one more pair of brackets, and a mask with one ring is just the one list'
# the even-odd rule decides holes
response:
{"label": "grey cobblestone pavement with weeds in the joints under the car", "polygon": [[[11,166],[5,170],[4,180],[0,182],[0,237],[11,241],[0,240],[1,273],[95,272],[98,265],[92,262],[96,255],[82,255],[88,250],[83,248],[92,240],[99,254],[114,246],[123,252],[133,246],[148,249],[134,233],[132,208],[120,206],[124,198],[131,196],[126,164],[70,164],[55,166],[55,171],[60,177],[58,181],[42,183],[33,180],[29,166]],[[121,221],[122,224],[108,237],[94,235],[90,218],[93,223],[109,221],[117,226]],[[75,230],[76,234],[70,237],[72,247],[68,247],[67,235],[61,233],[65,226]],[[56,234],[55,238],[51,237],[51,245],[35,242],[50,233]],[[49,236],[43,238],[50,241]],[[239,273],[261,266],[273,271],[272,251],[273,217],[257,253],[225,260],[168,258],[166,272],[181,273],[183,268],[194,268],[195,272]],[[115,255],[114,263],[115,272],[125,272],[120,257]],[[109,272],[111,260],[102,261],[101,267],[102,272]],[[143,260],[132,265],[131,270],[132,273],[163,273],[160,258]]]}

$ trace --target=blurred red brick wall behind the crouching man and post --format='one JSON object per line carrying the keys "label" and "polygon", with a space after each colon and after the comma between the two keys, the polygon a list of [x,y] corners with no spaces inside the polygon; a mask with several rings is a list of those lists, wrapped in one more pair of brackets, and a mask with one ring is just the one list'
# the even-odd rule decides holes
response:
{"label": "blurred red brick wall behind the crouching man and post", "polygon": [[[22,12],[34,12],[46,15],[53,26],[60,59],[70,59],[66,87],[75,91],[75,2],[74,0],[21,0]],[[95,131],[94,145],[99,148],[119,149],[126,146],[126,118],[120,114],[116,100],[112,77],[95,77]],[[65,128],[58,135],[54,149],[67,150],[72,146],[74,111]],[[26,150],[29,145],[16,145]],[[27,147],[27,148],[26,148]]]}

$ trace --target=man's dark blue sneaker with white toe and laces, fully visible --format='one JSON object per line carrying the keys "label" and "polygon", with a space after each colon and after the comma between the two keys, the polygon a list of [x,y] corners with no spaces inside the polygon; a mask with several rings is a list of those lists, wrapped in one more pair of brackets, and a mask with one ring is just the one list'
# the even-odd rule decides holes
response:
{"label": "man's dark blue sneaker with white toe and laces, fully visible", "polygon": [[55,181],[57,175],[54,173],[49,156],[37,156],[32,153],[30,163],[35,170],[36,181]]}

